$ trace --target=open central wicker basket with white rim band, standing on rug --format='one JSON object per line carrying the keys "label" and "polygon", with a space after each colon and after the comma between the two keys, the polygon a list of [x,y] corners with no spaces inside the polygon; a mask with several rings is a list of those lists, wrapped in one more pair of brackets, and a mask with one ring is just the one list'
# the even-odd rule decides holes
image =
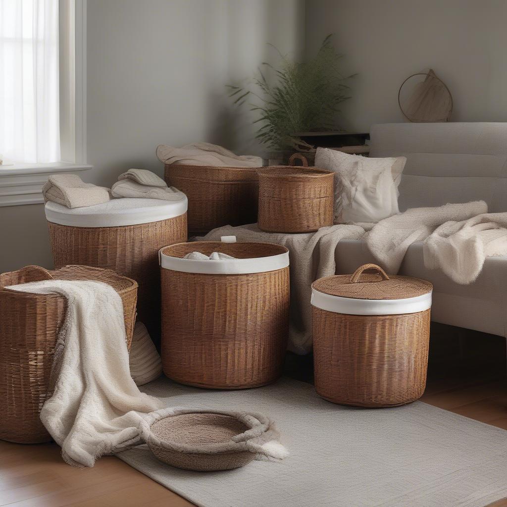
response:
{"label": "open central wicker basket with white rim band, standing on rug", "polygon": [[[183,259],[192,251],[235,260]],[[240,389],[276,380],[288,333],[288,250],[196,241],[161,250],[162,365],[183,384]]]}

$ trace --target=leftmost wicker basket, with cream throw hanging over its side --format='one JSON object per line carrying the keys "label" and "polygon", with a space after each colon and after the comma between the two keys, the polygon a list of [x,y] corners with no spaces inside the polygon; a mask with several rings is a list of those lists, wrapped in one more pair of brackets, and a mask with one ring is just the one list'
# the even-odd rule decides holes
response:
{"label": "leftmost wicker basket, with cream throw hanging over its side", "polygon": [[0,275],[0,439],[23,444],[49,442],[39,418],[51,396],[49,376],[65,299],[6,288],[32,281],[96,280],[110,284],[123,302],[127,347],[135,321],[137,282],[110,270],[65,266],[47,271],[27,266]]}

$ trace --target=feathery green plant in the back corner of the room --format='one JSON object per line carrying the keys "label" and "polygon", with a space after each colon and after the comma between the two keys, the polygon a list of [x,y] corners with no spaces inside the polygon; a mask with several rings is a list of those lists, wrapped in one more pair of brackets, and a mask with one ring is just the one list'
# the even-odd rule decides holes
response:
{"label": "feathery green plant in the back corner of the room", "polygon": [[313,151],[296,133],[336,130],[339,104],[349,98],[346,81],[353,76],[341,74],[341,55],[333,47],[332,34],[311,59],[293,61],[279,51],[278,55],[278,68],[262,63],[253,89],[229,85],[229,96],[238,106],[254,99],[250,110],[258,114],[257,138],[286,159],[294,151]]}

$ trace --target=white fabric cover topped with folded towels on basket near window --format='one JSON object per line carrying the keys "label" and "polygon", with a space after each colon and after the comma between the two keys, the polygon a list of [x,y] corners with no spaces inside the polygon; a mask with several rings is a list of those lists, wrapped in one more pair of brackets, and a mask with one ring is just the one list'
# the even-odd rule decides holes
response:
{"label": "white fabric cover topped with folded towels on basket near window", "polygon": [[187,212],[187,196],[178,201],[123,197],[94,206],[67,208],[48,201],[45,206],[48,222],[71,227],[119,227],[149,224],[172,219]]}

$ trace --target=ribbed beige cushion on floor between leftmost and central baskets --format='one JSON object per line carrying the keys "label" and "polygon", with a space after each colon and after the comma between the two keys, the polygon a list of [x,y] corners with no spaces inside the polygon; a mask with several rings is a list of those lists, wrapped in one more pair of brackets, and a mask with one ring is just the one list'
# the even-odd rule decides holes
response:
{"label": "ribbed beige cushion on floor between leftmost and central baskets", "polygon": [[136,385],[144,385],[162,375],[162,360],[146,326],[136,322],[130,345],[130,376]]}

